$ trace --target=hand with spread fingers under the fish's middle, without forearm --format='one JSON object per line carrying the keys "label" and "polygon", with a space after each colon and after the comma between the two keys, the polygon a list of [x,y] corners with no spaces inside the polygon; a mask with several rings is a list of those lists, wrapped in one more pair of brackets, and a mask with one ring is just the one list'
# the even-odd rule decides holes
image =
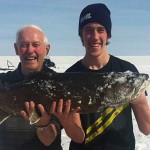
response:
{"label": "hand with spread fingers under the fish's middle, without forearm", "polygon": [[71,100],[66,101],[65,108],[63,108],[63,104],[63,99],[60,99],[56,108],[56,102],[53,102],[50,113],[54,114],[65,128],[74,122],[74,116],[80,110],[80,107],[71,110]]}

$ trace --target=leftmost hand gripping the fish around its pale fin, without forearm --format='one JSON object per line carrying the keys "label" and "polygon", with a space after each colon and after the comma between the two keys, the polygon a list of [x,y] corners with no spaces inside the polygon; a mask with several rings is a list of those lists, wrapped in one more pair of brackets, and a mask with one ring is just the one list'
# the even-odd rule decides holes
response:
{"label": "leftmost hand gripping the fish around its pale fin, without forearm", "polygon": [[[41,104],[38,104],[38,109],[41,113],[41,116],[33,124],[35,124],[35,126],[46,126],[49,123],[50,115],[45,111],[44,107]],[[25,102],[25,111],[22,110],[20,114],[21,116],[23,116],[23,118],[29,120],[30,123],[32,124],[30,119],[31,114],[34,112],[34,110],[35,104],[33,101]]]}

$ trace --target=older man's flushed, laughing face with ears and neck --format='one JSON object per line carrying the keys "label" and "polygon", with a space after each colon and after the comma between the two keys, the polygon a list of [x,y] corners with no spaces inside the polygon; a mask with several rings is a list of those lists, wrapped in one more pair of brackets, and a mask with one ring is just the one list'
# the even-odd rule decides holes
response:
{"label": "older man's flushed, laughing face with ears and neck", "polygon": [[21,60],[24,74],[40,71],[44,57],[49,51],[49,45],[44,43],[43,33],[34,28],[25,28],[15,44],[16,54]]}

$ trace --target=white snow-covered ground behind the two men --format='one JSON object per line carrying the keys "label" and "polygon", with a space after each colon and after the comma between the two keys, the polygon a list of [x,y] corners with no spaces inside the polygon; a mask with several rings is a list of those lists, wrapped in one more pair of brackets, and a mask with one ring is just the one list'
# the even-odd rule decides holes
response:
{"label": "white snow-covered ground behind the two men", "polygon": [[[147,73],[150,76],[150,56],[118,56],[124,60],[133,63],[140,73]],[[51,56],[50,59],[56,65],[53,68],[57,72],[64,72],[73,63],[81,59],[82,56]],[[7,60],[17,67],[19,58],[17,56],[0,56],[0,68],[7,68]],[[0,70],[0,72],[2,72]],[[150,86],[147,89],[148,101],[150,103]],[[135,150],[150,150],[150,136],[143,135],[137,126],[136,120],[133,117],[134,133],[136,138]],[[66,136],[64,130],[62,132],[62,146],[64,150],[68,150],[70,139]]]}

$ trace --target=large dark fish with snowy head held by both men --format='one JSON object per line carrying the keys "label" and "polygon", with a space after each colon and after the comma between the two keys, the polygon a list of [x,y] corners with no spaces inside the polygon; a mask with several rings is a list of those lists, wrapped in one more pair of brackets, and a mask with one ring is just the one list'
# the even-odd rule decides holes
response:
{"label": "large dark fish with snowy head held by both men", "polygon": [[[0,122],[19,114],[24,109],[24,102],[29,100],[42,104],[46,111],[54,100],[62,98],[72,100],[72,109],[80,106],[80,113],[102,112],[106,107],[119,107],[139,97],[148,84],[147,74],[130,71],[35,73],[24,81],[0,85]],[[38,119],[38,113],[34,112],[31,124]]]}

